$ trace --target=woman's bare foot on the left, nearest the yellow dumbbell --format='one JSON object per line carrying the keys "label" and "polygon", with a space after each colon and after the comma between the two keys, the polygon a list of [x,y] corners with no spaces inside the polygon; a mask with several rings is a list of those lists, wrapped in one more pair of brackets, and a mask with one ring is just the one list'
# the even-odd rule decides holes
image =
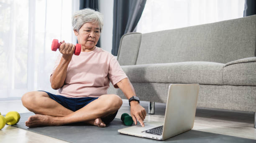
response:
{"label": "woman's bare foot on the left, nearest the yellow dumbbell", "polygon": [[59,124],[54,123],[53,116],[48,115],[33,115],[28,118],[28,121],[25,122],[28,127],[37,127],[37,126],[60,126]]}

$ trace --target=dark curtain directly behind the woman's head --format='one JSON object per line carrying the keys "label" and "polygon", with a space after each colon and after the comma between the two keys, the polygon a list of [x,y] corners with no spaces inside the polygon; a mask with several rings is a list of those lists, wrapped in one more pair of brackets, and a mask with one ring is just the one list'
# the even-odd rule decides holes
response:
{"label": "dark curtain directly behind the woman's head", "polygon": [[[99,10],[98,0],[80,0],[79,10],[82,10],[84,8],[90,8],[95,11],[98,11]],[[100,47],[100,39],[97,42],[96,46]]]}

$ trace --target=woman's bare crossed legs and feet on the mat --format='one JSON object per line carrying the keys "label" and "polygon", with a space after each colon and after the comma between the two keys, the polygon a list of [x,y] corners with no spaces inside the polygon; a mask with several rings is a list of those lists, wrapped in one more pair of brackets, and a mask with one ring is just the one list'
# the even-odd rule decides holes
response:
{"label": "woman's bare crossed legs and feet on the mat", "polygon": [[23,106],[36,115],[30,116],[26,126],[61,126],[68,123],[85,122],[104,127],[101,118],[115,113],[123,102],[114,94],[102,95],[87,106],[73,112],[51,99],[44,91],[32,91],[23,95]]}

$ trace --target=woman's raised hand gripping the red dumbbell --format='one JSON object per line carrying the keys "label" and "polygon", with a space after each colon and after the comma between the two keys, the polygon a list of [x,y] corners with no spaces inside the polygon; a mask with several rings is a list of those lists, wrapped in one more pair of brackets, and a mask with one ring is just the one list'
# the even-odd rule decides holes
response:
{"label": "woman's raised hand gripping the red dumbbell", "polygon": [[59,43],[61,43],[61,46],[59,47],[59,52],[61,52],[62,57],[66,60],[71,60],[74,54],[75,45],[65,43],[65,41],[61,41]]}

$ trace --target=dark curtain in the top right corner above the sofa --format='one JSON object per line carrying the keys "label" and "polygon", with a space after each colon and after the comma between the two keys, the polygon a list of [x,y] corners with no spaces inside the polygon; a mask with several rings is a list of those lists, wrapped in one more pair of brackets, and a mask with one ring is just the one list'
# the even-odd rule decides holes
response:
{"label": "dark curtain in the top right corner above the sofa", "polygon": [[256,0],[245,0],[243,17],[256,15]]}

